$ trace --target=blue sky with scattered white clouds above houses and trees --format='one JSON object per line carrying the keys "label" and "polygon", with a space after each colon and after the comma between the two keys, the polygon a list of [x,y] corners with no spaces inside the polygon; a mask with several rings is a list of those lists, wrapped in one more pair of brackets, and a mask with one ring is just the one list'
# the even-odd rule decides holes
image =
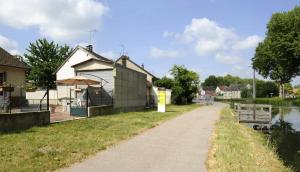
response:
{"label": "blue sky with scattered white clouds above houses and trees", "polygon": [[[86,46],[111,59],[123,51],[157,77],[174,64],[209,75],[252,77],[251,58],[275,12],[299,0],[0,0],[0,46]],[[91,36],[92,35],[92,36]],[[91,39],[92,38],[92,39]],[[300,84],[296,78],[293,84]]]}

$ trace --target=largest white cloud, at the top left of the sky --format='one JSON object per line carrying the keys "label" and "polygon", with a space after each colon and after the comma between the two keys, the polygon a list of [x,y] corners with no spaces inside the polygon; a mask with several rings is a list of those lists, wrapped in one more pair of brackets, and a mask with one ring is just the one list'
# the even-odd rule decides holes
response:
{"label": "largest white cloud, at the top left of the sky", "polygon": [[14,28],[35,26],[40,34],[69,40],[99,29],[108,7],[94,0],[0,0],[0,22]]}

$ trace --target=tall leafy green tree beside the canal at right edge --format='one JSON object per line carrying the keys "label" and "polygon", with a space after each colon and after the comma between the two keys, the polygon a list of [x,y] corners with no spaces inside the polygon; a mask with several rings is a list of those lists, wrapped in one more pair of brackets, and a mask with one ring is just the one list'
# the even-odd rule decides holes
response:
{"label": "tall leafy green tree beside the canal at right edge", "polygon": [[272,15],[252,64],[263,77],[276,81],[284,96],[283,85],[300,72],[300,7]]}

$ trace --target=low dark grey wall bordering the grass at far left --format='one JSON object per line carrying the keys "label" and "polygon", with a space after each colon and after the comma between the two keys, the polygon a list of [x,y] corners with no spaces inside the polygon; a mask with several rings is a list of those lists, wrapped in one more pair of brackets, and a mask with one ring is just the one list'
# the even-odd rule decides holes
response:
{"label": "low dark grey wall bordering the grass at far left", "polygon": [[50,112],[20,112],[0,114],[0,132],[28,129],[50,124]]}

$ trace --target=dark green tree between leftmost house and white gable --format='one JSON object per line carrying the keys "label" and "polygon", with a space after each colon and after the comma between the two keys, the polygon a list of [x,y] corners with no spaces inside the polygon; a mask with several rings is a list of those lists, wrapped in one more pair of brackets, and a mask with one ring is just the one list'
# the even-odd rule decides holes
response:
{"label": "dark green tree between leftmost house and white gable", "polygon": [[24,56],[30,68],[27,79],[37,87],[55,88],[56,75],[54,72],[70,55],[72,49],[67,45],[60,46],[53,41],[38,39],[34,43],[30,43],[26,50],[27,53]]}

